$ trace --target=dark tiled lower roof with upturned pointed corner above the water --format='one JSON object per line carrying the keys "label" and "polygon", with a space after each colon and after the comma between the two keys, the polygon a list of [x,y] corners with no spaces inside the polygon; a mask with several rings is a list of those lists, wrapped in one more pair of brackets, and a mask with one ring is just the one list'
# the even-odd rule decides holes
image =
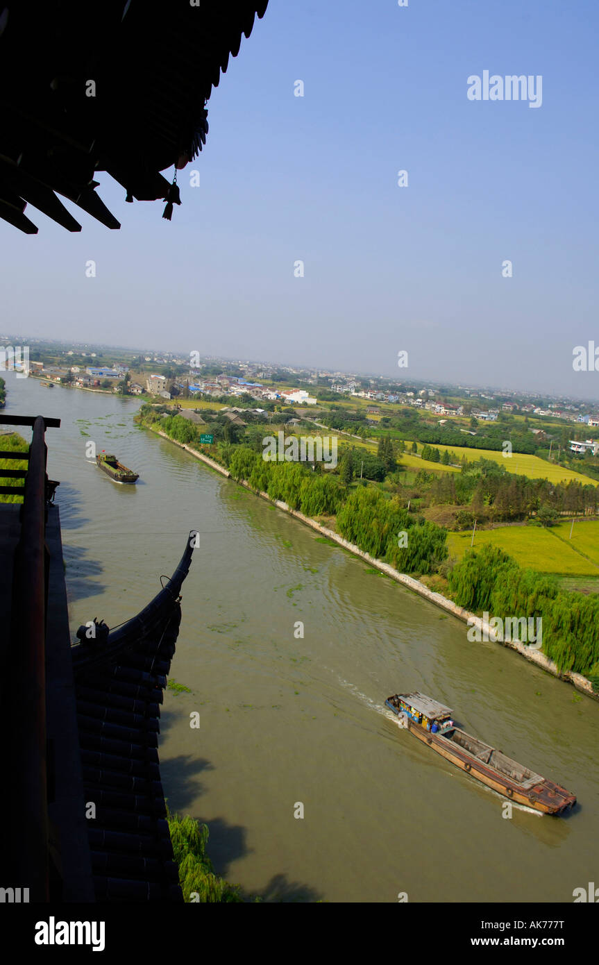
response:
{"label": "dark tiled lower roof with upturned pointed corner above the water", "polygon": [[[71,649],[96,901],[182,901],[158,760],[159,718],[175,653],[192,539],[147,607]],[[82,801],[82,806],[83,806]]]}

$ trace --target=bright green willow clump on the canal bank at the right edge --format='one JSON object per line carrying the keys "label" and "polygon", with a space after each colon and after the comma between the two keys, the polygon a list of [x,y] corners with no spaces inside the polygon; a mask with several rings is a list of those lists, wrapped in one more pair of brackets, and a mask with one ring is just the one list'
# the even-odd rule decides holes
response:
{"label": "bright green willow clump on the canal bank at the right edge", "polygon": [[458,606],[491,616],[542,618],[542,652],[559,673],[574,671],[599,689],[599,595],[560,590],[553,576],[523,569],[497,546],[471,549],[449,572]]}

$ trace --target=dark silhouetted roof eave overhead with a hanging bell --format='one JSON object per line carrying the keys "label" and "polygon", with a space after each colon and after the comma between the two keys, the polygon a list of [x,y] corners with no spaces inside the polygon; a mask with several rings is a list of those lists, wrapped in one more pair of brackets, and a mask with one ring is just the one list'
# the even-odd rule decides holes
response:
{"label": "dark silhouetted roof eave overhead with a hanging bell", "polygon": [[267,3],[0,0],[0,218],[36,234],[30,205],[80,231],[61,194],[120,228],[96,171],[127,200],[166,198],[160,172],[202,151],[205,102]]}

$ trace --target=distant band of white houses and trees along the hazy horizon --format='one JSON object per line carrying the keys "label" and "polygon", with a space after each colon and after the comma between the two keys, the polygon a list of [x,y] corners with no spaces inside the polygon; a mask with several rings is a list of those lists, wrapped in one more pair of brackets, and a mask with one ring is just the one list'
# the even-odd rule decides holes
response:
{"label": "distant band of white houses and trees along the hazy horizon", "polygon": [[[34,340],[35,341],[35,340]],[[467,386],[435,386],[419,389],[414,384],[397,382],[388,376],[365,376],[359,373],[307,370],[286,366],[252,363],[244,360],[209,358],[204,366],[190,366],[189,356],[164,352],[140,354],[129,358],[131,363],[117,362],[114,356],[123,356],[123,350],[104,349],[102,352],[83,351],[76,347],[54,348],[52,357],[60,355],[60,364],[30,361],[31,374],[51,382],[70,384],[76,388],[108,390],[130,396],[150,396],[172,400],[177,398],[222,400],[223,397],[248,397],[257,403],[270,402],[289,406],[315,406],[337,396],[367,400],[367,415],[377,417],[376,403],[395,403],[412,406],[423,412],[444,417],[466,416],[477,423],[496,422],[500,412],[531,417],[550,417],[567,423],[575,423],[589,429],[599,427],[599,406],[576,400],[539,400],[530,393],[481,391]],[[45,354],[39,352],[38,354]],[[111,359],[110,365],[97,365],[98,354]],[[132,353],[128,353],[132,355]],[[81,360],[81,361],[80,361]],[[69,364],[70,362],[76,364]],[[89,364],[88,364],[89,363]],[[208,363],[206,365],[206,363]],[[150,369],[163,372],[150,372]],[[218,374],[218,369],[222,371]],[[210,374],[206,374],[206,369]],[[231,372],[242,374],[231,374]],[[168,372],[168,373],[166,373]],[[132,377],[133,374],[133,377]],[[263,380],[263,381],[260,381]],[[275,379],[285,380],[279,387]],[[307,384],[308,389],[292,387],[293,382]],[[448,401],[448,397],[451,401]],[[541,404],[542,402],[542,404]],[[376,425],[373,419],[372,425]],[[533,432],[541,432],[532,428]],[[580,434],[580,433],[577,433]],[[593,439],[569,440],[573,453],[592,455],[599,453],[599,441]]]}

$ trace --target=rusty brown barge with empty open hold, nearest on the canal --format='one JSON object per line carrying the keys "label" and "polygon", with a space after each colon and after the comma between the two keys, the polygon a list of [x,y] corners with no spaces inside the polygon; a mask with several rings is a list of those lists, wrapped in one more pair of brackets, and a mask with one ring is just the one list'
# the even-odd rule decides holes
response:
{"label": "rusty brown barge with empty open hold, nearest on the canal", "polygon": [[564,787],[534,774],[528,767],[489,744],[483,744],[477,737],[460,731],[451,720],[449,707],[418,690],[395,694],[388,697],[385,704],[399,718],[400,727],[510,801],[546,814],[562,814],[576,804],[575,795]]}

